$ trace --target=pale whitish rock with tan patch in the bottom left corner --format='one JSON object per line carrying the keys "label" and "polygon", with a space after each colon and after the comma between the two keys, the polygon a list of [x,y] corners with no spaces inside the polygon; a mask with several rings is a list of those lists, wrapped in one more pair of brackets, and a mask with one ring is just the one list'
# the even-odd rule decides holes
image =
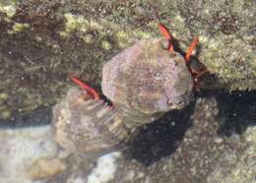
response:
{"label": "pale whitish rock with tan patch in the bottom left corner", "polygon": [[0,129],[0,182],[30,183],[66,169],[50,127]]}

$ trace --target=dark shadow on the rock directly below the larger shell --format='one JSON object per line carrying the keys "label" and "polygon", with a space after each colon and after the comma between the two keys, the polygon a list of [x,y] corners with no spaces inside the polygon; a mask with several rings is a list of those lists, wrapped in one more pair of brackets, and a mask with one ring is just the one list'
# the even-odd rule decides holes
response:
{"label": "dark shadow on the rock directly below the larger shell", "polygon": [[170,111],[155,122],[142,127],[130,142],[125,154],[149,166],[175,152],[187,129],[194,103],[182,110]]}

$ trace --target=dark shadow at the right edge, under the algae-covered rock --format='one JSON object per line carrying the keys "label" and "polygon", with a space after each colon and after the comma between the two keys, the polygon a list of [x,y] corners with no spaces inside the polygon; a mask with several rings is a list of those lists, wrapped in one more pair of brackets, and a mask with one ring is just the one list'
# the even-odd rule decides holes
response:
{"label": "dark shadow at the right edge, under the algae-covered rock", "polygon": [[217,100],[222,118],[220,135],[242,134],[248,126],[256,125],[256,91],[222,92]]}

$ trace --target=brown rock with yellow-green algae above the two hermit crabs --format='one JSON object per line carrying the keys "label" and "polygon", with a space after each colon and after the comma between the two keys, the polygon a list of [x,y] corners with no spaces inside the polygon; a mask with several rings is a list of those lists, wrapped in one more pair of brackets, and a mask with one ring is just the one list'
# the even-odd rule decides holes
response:
{"label": "brown rock with yellow-green algae above the two hermit crabs", "polygon": [[69,74],[99,88],[103,63],[138,39],[159,36],[159,22],[183,52],[199,35],[196,58],[215,79],[211,89],[255,89],[255,7],[253,0],[1,0],[0,117],[52,106]]}

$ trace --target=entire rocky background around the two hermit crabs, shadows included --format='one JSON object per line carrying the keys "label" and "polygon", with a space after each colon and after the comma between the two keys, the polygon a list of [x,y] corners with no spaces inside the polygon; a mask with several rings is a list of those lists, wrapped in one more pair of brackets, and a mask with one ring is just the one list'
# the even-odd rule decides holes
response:
{"label": "entire rocky background around the two hermit crabs, shadows included", "polygon": [[[256,93],[246,91],[256,86],[255,8],[254,0],[0,0],[0,183],[255,182]],[[170,21],[181,54],[199,35],[194,59],[209,69],[212,93],[142,127],[128,150],[63,152],[48,124],[67,76],[99,89],[106,61]]]}

